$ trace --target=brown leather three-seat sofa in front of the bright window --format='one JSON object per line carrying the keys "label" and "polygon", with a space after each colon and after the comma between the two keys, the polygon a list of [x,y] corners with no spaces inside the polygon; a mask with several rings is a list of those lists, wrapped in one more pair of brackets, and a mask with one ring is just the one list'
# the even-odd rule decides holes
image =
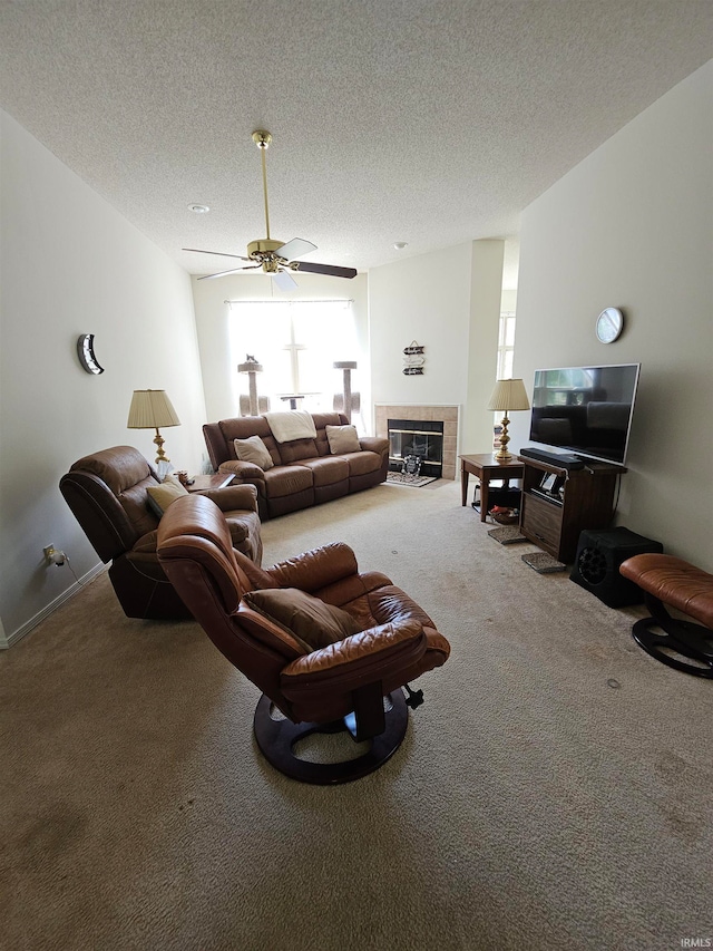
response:
{"label": "brown leather three-seat sofa in front of the bright window", "polygon": [[[214,469],[235,474],[236,482],[257,488],[257,504],[263,521],[309,508],[352,492],[384,482],[389,468],[389,440],[362,437],[360,450],[332,455],[326,426],[349,423],[341,413],[313,414],[315,439],[277,443],[264,416],[244,416],[207,423],[203,435]],[[266,470],[254,463],[241,462],[234,439],[260,436],[272,457]]]}

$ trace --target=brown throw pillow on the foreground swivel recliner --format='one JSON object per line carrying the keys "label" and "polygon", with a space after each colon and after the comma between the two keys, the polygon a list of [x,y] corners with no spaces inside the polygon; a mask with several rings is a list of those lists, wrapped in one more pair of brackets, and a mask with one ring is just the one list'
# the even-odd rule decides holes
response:
{"label": "brown throw pillow on the foreground swivel recliner", "polygon": [[329,647],[361,630],[346,611],[325,604],[297,588],[248,591],[243,601],[303,641],[310,651]]}

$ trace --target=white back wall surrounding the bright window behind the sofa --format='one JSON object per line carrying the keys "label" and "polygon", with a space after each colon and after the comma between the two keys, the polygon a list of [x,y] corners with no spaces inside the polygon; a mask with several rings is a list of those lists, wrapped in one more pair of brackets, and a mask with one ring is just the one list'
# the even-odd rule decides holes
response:
{"label": "white back wall surrounding the bright window behind the sofa", "polygon": [[[235,405],[233,382],[237,373],[235,361],[231,359],[229,314],[226,301],[263,300],[352,300],[356,324],[358,352],[348,353],[344,360],[356,360],[358,368],[352,372],[352,390],[361,394],[362,407],[369,406],[369,311],[367,298],[367,275],[356,274],[351,280],[330,278],[323,274],[296,274],[297,288],[282,293],[273,288],[266,274],[235,274],[216,281],[193,279],[196,327],[201,350],[201,365],[205,387],[207,419],[231,419],[240,415]],[[260,353],[255,355],[260,359]],[[244,359],[244,357],[242,358]],[[334,371],[339,392],[341,377]],[[260,378],[257,379],[260,392]],[[244,392],[247,392],[245,378]],[[280,407],[272,407],[273,410]],[[369,425],[369,416],[364,413]]]}

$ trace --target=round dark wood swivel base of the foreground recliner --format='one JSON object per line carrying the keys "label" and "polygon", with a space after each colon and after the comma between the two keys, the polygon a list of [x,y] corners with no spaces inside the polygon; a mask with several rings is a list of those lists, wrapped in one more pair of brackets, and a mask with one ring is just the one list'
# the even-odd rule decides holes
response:
{"label": "round dark wood swivel base of the foreground recliner", "polygon": [[318,786],[350,783],[379,769],[401,746],[409,725],[409,709],[401,690],[393,690],[389,699],[391,709],[384,714],[385,729],[369,740],[371,747],[367,753],[354,759],[341,763],[311,763],[300,759],[294,753],[294,746],[311,734],[352,731],[344,720],[333,724],[294,724],[286,718],[275,720],[270,712],[272,701],[264,693],[255,708],[255,739],[271,766],[291,779]]}

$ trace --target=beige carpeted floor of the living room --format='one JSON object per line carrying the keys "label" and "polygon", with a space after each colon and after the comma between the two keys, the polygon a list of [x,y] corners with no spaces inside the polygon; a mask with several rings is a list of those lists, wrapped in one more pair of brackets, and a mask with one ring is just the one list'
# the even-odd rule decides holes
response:
{"label": "beige carpeted floor of the living room", "polygon": [[[713,683],[521,561],[460,486],[264,525],[265,563],[350,543],[452,646],[378,773],[302,786],[257,690],[106,575],[0,656],[0,948],[672,951],[713,938]],[[530,546],[531,551],[535,551]]]}

